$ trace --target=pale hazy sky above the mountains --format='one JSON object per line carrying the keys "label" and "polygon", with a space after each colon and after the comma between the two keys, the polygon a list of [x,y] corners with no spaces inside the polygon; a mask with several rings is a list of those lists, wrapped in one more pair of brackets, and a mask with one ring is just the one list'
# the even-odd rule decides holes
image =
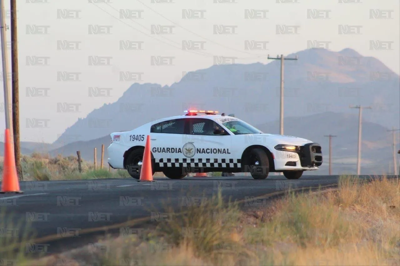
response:
{"label": "pale hazy sky above the mountains", "polygon": [[[5,2],[9,25],[10,6]],[[400,73],[399,0],[18,0],[17,4],[21,141],[51,143],[79,117],[116,101],[134,83],[120,81],[127,77],[125,71],[142,73],[132,75],[140,77],[139,83],[171,85],[182,78],[182,71],[212,66],[213,56],[266,64],[268,54],[298,52],[310,48],[311,41],[333,51],[352,48]],[[344,30],[356,34],[339,34]],[[7,33],[10,42],[10,30]],[[254,42],[246,46],[246,41]],[[196,48],[202,50],[188,50]],[[76,78],[79,81],[67,81]],[[3,90],[1,97],[3,102]]]}

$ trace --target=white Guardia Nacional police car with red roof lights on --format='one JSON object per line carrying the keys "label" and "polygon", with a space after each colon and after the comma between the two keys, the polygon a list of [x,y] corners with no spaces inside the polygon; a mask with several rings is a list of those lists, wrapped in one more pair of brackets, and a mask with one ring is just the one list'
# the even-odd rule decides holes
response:
{"label": "white Guardia Nacional police car with red roof lights on", "polygon": [[303,171],[322,164],[321,146],[298,137],[266,134],[232,116],[217,111],[185,111],[126,132],[110,134],[108,164],[127,169],[139,179],[146,144],[151,139],[152,170],[170,179],[188,173],[250,172],[265,179],[270,172],[283,172],[298,179]]}

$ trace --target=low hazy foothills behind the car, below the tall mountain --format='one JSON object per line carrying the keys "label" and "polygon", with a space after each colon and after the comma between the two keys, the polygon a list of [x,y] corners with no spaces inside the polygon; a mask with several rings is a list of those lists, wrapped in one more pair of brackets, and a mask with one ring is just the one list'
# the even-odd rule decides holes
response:
{"label": "low hazy foothills behind the car, below the tall mountain", "polygon": [[[236,117],[242,118],[239,115]],[[329,121],[324,127],[320,126],[321,121]],[[382,174],[393,167],[392,161],[392,134],[387,128],[363,121],[362,127],[362,168],[361,173],[365,175]],[[256,126],[265,133],[275,133],[279,130],[279,122],[273,121]],[[306,117],[286,117],[284,120],[284,134],[294,135],[310,139],[322,145],[324,163],[319,171],[308,172],[308,174],[328,175],[328,137],[324,135],[337,135],[332,138],[332,162],[333,174],[356,173],[357,143],[358,143],[358,116],[356,114],[342,114],[325,112]],[[397,134],[397,139],[399,135]],[[50,155],[76,156],[80,151],[82,159],[93,161],[94,148],[97,148],[97,162],[100,164],[101,145],[104,144],[104,165],[107,166],[107,147],[110,144],[110,135],[93,139],[90,141],[76,141],[63,147],[49,151]],[[4,151],[1,143],[1,155]],[[33,144],[31,144],[34,146]],[[22,145],[21,145],[22,146]],[[400,149],[397,144],[396,151]],[[23,154],[30,151],[21,148]],[[398,155],[398,154],[396,154]],[[400,155],[399,155],[400,157]],[[399,165],[398,165],[399,166]],[[392,168],[390,168],[392,171]]]}

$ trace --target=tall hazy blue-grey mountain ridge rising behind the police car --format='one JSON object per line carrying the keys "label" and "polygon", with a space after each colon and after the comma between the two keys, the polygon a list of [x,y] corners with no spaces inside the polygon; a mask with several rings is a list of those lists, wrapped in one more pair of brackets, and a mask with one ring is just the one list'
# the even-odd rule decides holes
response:
{"label": "tall hazy blue-grey mountain ridge rising behind the police car", "polygon": [[[398,127],[400,78],[376,58],[352,49],[308,49],[285,61],[285,117],[326,111],[357,114],[349,105],[372,105],[366,121]],[[188,72],[171,86],[134,83],[118,101],[104,104],[74,125],[55,144],[97,139],[130,130],[148,121],[183,113],[186,108],[235,113],[251,124],[279,117],[280,62],[214,65]],[[329,120],[314,121],[328,128]],[[272,133],[278,133],[278,128]],[[72,137],[73,136],[73,137]]]}

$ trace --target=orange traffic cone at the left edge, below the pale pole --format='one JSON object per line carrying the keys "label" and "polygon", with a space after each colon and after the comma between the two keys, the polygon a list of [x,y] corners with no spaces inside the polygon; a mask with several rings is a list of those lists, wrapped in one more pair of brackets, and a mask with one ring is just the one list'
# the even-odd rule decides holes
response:
{"label": "orange traffic cone at the left edge, below the pale pole", "polygon": [[15,166],[14,145],[10,138],[10,129],[4,134],[3,181],[0,193],[23,193],[20,191],[17,168]]}

